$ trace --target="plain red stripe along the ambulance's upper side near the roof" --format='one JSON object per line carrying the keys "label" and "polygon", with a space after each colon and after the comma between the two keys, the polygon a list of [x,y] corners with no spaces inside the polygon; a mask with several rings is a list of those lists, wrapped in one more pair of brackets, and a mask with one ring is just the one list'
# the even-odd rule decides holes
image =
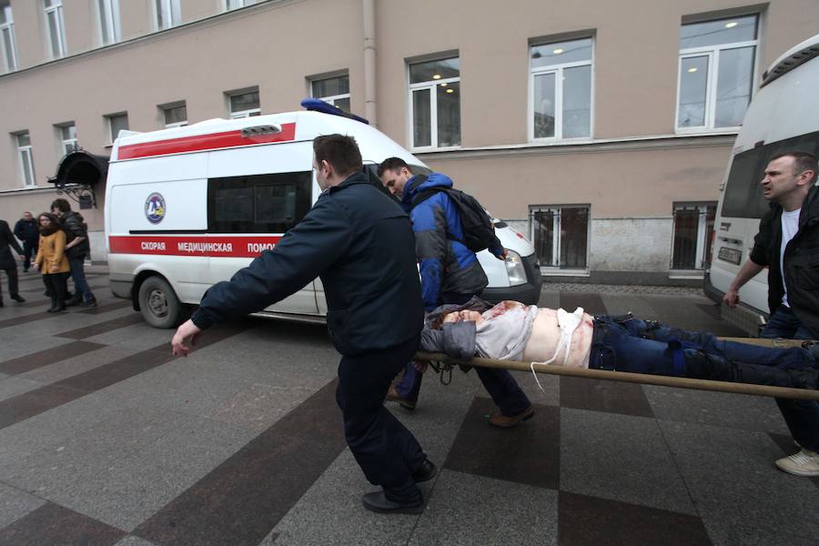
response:
{"label": "plain red stripe along the ambulance's upper side near the roof", "polygon": [[281,131],[270,135],[242,136],[240,130],[210,135],[182,136],[155,140],[119,147],[118,159],[135,159],[136,157],[167,156],[185,152],[203,152],[223,148],[269,144],[271,142],[288,142],[296,139],[296,124],[283,123]]}

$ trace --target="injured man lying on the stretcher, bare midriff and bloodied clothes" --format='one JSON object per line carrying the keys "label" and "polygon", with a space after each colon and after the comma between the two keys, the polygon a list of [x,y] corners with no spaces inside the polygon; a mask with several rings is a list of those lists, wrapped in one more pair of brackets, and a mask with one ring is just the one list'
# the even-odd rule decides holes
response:
{"label": "injured man lying on the stretcher, bare midriff and bloodied clothes", "polygon": [[651,320],[597,316],[577,308],[479,298],[444,305],[425,319],[420,349],[453,359],[521,360],[573,368],[817,389],[819,346],[786,349],[717,339]]}

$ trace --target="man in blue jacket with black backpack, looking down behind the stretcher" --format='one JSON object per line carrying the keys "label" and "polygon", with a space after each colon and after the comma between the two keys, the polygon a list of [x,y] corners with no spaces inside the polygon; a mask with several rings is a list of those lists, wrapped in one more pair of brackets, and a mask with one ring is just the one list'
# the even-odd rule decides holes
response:
{"label": "man in blue jacket with black backpack, looking down behind the stretcher", "polygon": [[[440,305],[464,304],[489,284],[475,253],[467,248],[458,206],[446,193],[452,180],[440,173],[413,176],[410,167],[399,157],[389,157],[379,165],[381,183],[401,198],[401,207],[410,213],[415,233],[415,252],[419,261],[424,308],[431,311]],[[441,191],[430,192],[439,188]],[[423,198],[420,196],[423,194]],[[503,259],[503,248],[490,248]],[[477,368],[478,376],[500,413],[490,417],[490,424],[513,427],[530,419],[534,409],[518,383],[504,369]],[[404,377],[388,399],[409,410],[418,403],[423,375],[415,364],[407,365]]]}

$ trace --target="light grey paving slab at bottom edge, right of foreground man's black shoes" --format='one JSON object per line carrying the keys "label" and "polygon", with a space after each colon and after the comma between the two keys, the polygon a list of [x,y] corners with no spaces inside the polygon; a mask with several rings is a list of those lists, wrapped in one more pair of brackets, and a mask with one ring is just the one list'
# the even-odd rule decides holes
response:
{"label": "light grey paving slab at bottom edge, right of foreground man's black shoes", "polygon": [[556,490],[443,470],[408,544],[547,545],[557,539]]}

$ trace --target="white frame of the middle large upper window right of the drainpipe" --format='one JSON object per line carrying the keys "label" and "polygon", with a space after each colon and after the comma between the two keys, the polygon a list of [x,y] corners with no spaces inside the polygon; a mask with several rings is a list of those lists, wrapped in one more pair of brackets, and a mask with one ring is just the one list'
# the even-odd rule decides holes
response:
{"label": "white frame of the middle large upper window right of the drainpipe", "polygon": [[[560,63],[549,66],[531,67],[531,48],[541,45],[562,44],[563,42],[570,42],[572,40],[591,40],[591,59],[588,61],[575,61],[573,63]],[[529,120],[527,122],[527,131],[530,142],[554,142],[554,141],[588,141],[591,140],[594,134],[592,128],[594,127],[594,53],[595,53],[594,36],[577,36],[574,38],[560,40],[558,42],[538,42],[529,45],[530,66],[529,66]],[[590,66],[589,68],[589,83],[591,89],[589,90],[589,136],[573,136],[571,138],[563,138],[563,70],[567,68],[576,68],[578,66]],[[536,76],[546,76],[554,74],[554,136],[534,136],[534,80]]]}

